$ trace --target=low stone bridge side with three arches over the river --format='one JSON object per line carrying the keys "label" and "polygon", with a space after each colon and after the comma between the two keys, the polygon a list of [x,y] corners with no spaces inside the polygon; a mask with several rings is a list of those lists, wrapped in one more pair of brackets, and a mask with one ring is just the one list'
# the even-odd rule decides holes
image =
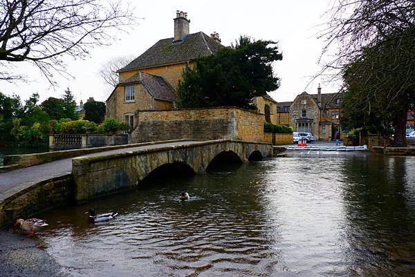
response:
{"label": "low stone bridge side with three arches over the river", "polygon": [[[111,191],[136,187],[163,167],[205,173],[216,162],[245,162],[272,156],[272,145],[261,142],[211,140],[72,160],[75,199],[82,202]],[[216,162],[215,162],[216,161]]]}

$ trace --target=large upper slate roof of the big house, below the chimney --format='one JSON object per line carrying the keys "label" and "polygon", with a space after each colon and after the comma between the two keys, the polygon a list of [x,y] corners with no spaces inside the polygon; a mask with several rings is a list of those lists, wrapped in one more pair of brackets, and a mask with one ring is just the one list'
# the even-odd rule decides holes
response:
{"label": "large upper slate roof of the big house, below the chimney", "polygon": [[191,61],[198,57],[214,54],[223,47],[225,46],[204,32],[187,34],[181,41],[174,41],[173,37],[160,39],[140,57],[131,61],[118,72]]}

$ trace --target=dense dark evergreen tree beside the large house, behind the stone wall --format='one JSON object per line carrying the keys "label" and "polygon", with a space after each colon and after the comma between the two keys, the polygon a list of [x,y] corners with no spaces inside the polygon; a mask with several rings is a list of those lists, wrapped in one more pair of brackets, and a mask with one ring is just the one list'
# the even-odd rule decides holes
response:
{"label": "dense dark evergreen tree beside the large house, behind the stone wall", "polygon": [[274,41],[240,37],[235,46],[200,57],[178,83],[181,108],[238,106],[255,109],[252,98],[279,87],[271,63],[282,59]]}

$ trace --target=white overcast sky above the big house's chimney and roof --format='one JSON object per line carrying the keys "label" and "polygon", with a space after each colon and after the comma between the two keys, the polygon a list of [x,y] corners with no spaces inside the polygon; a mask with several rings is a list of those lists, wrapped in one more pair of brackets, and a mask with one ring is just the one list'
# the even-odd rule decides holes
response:
{"label": "white overcast sky above the big house's chimney and roof", "polygon": [[[299,1],[133,1],[136,5],[138,26],[131,27],[128,33],[114,33],[117,41],[112,46],[102,46],[91,50],[86,60],[66,59],[67,72],[73,78],[55,74],[58,86],[50,88],[39,70],[26,62],[14,68],[15,72],[25,73],[33,79],[22,83],[0,81],[0,91],[7,95],[15,93],[27,99],[34,92],[41,101],[53,96],[60,97],[69,87],[77,102],[94,97],[105,101],[107,93],[98,72],[107,59],[120,55],[138,57],[159,39],[173,37],[176,10],[187,12],[190,19],[190,32],[219,32],[222,44],[229,46],[239,35],[254,39],[267,39],[279,42],[283,60],[273,64],[274,73],[281,78],[281,86],[270,93],[279,102],[293,101],[295,95],[306,90],[317,93],[320,78],[308,85],[311,76],[320,66],[317,59],[324,41],[317,39],[316,27],[325,21],[322,18],[329,8],[329,0]],[[308,85],[308,86],[307,86]],[[322,84],[322,93],[335,92],[335,84]]]}

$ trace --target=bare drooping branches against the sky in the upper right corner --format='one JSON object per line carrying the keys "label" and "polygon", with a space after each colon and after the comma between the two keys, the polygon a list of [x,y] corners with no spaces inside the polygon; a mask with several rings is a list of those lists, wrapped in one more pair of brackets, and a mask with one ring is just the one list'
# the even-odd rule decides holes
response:
{"label": "bare drooping branches against the sky in the upper right corner", "polygon": [[341,76],[344,67],[358,59],[365,47],[378,44],[391,33],[413,28],[414,15],[414,0],[332,0],[326,12],[329,20],[319,36],[326,40],[320,75]]}

